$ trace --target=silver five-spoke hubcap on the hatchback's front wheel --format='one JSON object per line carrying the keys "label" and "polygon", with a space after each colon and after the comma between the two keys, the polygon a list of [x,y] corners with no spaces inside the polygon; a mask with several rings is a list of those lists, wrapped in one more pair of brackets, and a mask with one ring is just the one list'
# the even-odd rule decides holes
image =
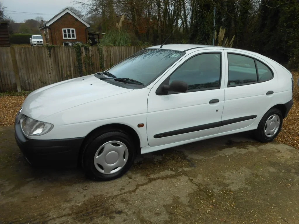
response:
{"label": "silver five-spoke hubcap on the hatchback's front wheel", "polygon": [[128,161],[129,151],[120,141],[110,141],[98,148],[94,155],[94,166],[102,174],[114,174]]}

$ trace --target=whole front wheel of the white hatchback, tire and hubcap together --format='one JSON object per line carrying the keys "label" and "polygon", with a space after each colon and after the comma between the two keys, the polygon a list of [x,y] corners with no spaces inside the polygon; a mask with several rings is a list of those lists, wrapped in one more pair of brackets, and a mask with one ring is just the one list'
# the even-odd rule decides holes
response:
{"label": "whole front wheel of the white hatchback, tire and hubcap together", "polygon": [[82,165],[89,179],[107,181],[125,174],[135,157],[135,144],[129,135],[121,131],[110,131],[91,137],[86,142]]}

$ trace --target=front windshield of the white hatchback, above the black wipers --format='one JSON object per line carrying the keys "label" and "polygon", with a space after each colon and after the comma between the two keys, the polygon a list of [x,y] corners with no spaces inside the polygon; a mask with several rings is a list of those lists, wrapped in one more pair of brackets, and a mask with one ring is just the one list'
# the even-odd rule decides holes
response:
{"label": "front windshield of the white hatchback, above the black wipers", "polygon": [[148,85],[185,53],[175,50],[144,49],[111,67],[117,78],[129,78]]}

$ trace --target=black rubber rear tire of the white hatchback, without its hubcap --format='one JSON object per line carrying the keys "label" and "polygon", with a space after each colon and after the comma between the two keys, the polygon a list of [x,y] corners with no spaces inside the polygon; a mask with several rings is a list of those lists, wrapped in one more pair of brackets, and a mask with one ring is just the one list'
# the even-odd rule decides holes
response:
{"label": "black rubber rear tire of the white hatchback, without its hubcap", "polygon": [[[267,120],[273,115],[279,116],[280,125],[279,125],[279,128],[278,128],[277,132],[273,136],[269,137],[265,134],[265,125],[266,125]],[[281,111],[277,108],[271,108],[262,117],[262,119],[260,120],[259,125],[257,126],[257,129],[254,130],[253,134],[254,134],[255,139],[257,139],[257,141],[260,141],[260,142],[271,142],[271,141],[273,141],[276,138],[276,136],[279,134],[280,130],[281,130],[282,122],[283,122],[283,117],[282,117]]]}

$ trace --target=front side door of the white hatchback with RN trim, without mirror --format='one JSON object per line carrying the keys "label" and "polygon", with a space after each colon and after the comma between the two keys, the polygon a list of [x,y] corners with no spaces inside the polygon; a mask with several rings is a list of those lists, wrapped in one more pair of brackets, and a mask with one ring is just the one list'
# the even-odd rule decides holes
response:
{"label": "front side door of the white hatchback with RN trim, without mirror", "polygon": [[[186,56],[154,85],[148,96],[147,137],[158,146],[216,134],[224,105],[224,51],[200,50]],[[160,85],[184,81],[184,93],[157,95]]]}

